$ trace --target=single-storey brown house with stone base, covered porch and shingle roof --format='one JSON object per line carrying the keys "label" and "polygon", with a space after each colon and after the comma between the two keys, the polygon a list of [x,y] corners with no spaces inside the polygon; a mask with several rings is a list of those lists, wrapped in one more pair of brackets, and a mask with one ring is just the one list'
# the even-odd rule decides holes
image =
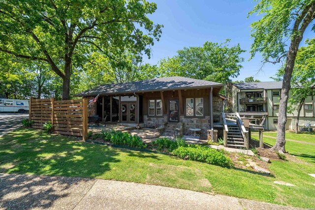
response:
{"label": "single-storey brown house with stone base, covered porch and shingle roof", "polygon": [[115,84],[102,84],[77,94],[93,99],[89,115],[113,124],[163,128],[165,132],[190,134],[200,128],[206,137],[213,123],[220,122],[225,99],[219,92],[223,84],[184,77],[165,77]]}

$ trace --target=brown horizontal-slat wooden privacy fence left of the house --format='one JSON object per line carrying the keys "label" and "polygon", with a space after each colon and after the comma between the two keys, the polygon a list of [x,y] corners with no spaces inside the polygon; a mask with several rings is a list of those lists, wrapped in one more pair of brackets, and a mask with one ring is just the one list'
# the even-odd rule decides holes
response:
{"label": "brown horizontal-slat wooden privacy fence left of the house", "polygon": [[51,122],[53,132],[66,135],[88,135],[87,99],[56,101],[50,99],[30,99],[30,121],[32,128],[43,129],[43,124]]}

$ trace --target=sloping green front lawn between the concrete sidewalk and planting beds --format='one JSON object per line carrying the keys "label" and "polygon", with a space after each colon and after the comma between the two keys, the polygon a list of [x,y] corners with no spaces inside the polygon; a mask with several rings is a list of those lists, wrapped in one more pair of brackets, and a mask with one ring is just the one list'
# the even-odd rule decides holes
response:
{"label": "sloping green front lawn between the concrete sidewalk and planting beds", "polygon": [[[273,143],[270,139],[265,142]],[[295,143],[295,142],[290,142]],[[287,150],[300,146],[289,144]],[[292,148],[290,148],[292,147]],[[315,208],[314,151],[301,144],[307,162],[272,161],[275,177],[151,152],[77,141],[74,137],[20,129],[0,138],[0,172],[87,177],[157,184],[206,193]],[[289,187],[274,184],[284,181]]]}

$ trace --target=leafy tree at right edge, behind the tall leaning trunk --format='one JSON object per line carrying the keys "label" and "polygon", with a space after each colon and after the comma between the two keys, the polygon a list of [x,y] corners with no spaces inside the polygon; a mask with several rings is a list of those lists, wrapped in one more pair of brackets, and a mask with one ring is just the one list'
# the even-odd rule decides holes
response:
{"label": "leafy tree at right edge, behind the tall leaning trunk", "polygon": [[[307,47],[301,47],[296,55],[294,71],[291,79],[291,95],[288,99],[288,113],[297,112],[295,132],[299,131],[300,113],[308,97],[315,95],[315,39],[307,40]],[[284,68],[276,74],[282,80]]]}

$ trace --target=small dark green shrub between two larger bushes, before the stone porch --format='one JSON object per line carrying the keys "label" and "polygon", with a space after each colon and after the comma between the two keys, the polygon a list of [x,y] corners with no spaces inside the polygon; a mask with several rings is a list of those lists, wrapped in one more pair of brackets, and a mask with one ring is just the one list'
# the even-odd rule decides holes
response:
{"label": "small dark green shrub between two larger bushes, before the stone porch", "polygon": [[153,146],[157,146],[157,149],[160,151],[172,152],[178,147],[186,147],[187,143],[182,138],[176,138],[175,141],[167,137],[158,138],[156,141],[152,142]]}

